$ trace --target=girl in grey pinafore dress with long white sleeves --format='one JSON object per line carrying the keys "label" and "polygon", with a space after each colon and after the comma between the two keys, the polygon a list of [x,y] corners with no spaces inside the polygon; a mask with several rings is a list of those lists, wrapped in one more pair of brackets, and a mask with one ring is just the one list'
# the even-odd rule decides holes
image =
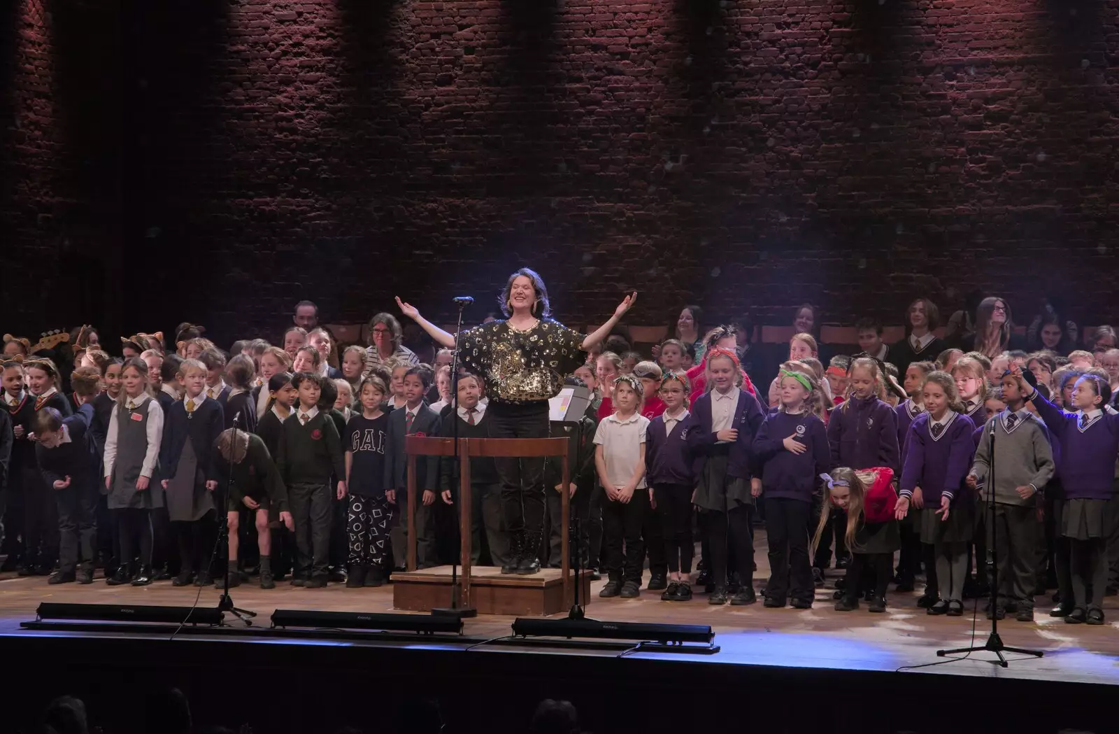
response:
{"label": "girl in grey pinafore dress with long white sleeves", "polygon": [[151,511],[163,507],[163,488],[153,479],[163,437],[163,410],[148,394],[147,384],[148,365],[137,357],[128,359],[105,437],[105,488],[109,509],[116,515],[121,554],[120,567],[107,580],[114,586],[152,582]]}

